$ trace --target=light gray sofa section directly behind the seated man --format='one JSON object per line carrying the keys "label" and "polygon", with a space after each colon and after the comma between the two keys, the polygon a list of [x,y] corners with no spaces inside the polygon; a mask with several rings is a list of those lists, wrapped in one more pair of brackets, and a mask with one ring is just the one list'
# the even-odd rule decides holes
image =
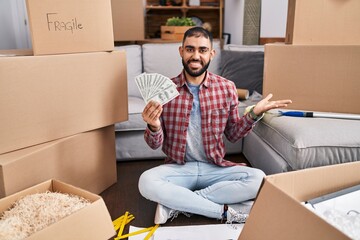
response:
{"label": "light gray sofa section directly behind the seated man", "polygon": [[[181,58],[178,52],[180,43],[156,43],[156,44],[143,44],[143,45],[127,45],[116,47],[119,50],[125,50],[127,53],[127,76],[128,76],[128,97],[129,97],[129,119],[126,122],[117,123],[115,125],[116,134],[116,158],[118,161],[129,161],[139,159],[154,159],[164,158],[161,149],[153,150],[147,146],[144,141],[144,130],[146,124],[142,120],[141,113],[145,107],[145,103],[141,98],[141,94],[137,89],[134,78],[142,72],[147,73],[160,73],[167,77],[177,76],[182,70]],[[235,73],[229,72],[226,69],[231,68],[231,65],[237,62],[227,61],[232,59],[228,56],[222,59],[221,55],[224,52],[220,48],[220,42],[214,41],[214,48],[216,50],[216,57],[211,62],[209,70],[216,74],[224,74],[232,77]],[[248,50],[259,50],[263,55],[263,47],[244,47]],[[231,51],[231,49],[228,49]],[[225,52],[226,53],[226,52]],[[263,59],[258,61],[262,64]],[[229,65],[229,67],[222,67],[222,65]],[[257,70],[252,72],[260,72],[258,77],[258,86],[261,86],[262,81],[262,66],[258,66]],[[245,71],[246,72],[246,71]],[[246,73],[245,73],[246,74]],[[243,85],[237,85],[238,88],[247,88],[246,81],[238,81]],[[247,81],[254,82],[254,81]],[[251,85],[251,84],[250,84]],[[252,88],[250,86],[250,88]],[[255,90],[254,88],[253,90]],[[257,89],[259,90],[259,89]],[[243,114],[247,105],[251,101],[241,102],[239,104],[239,114]],[[236,143],[230,143],[225,139],[227,153],[241,153],[243,141],[240,140]]]}

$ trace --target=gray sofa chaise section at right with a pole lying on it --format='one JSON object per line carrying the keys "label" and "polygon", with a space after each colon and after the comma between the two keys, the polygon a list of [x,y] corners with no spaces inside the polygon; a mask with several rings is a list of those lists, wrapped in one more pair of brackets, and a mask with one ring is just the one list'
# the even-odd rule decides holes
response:
{"label": "gray sofa chaise section at right with a pole lying on it", "polygon": [[245,137],[243,154],[266,174],[360,160],[360,121],[265,117]]}

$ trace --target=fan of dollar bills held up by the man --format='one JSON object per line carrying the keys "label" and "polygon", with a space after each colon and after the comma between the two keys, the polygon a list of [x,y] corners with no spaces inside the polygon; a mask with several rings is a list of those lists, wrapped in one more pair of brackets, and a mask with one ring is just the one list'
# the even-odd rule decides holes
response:
{"label": "fan of dollar bills held up by the man", "polygon": [[154,100],[164,105],[179,96],[175,83],[159,73],[142,73],[135,82],[145,103]]}

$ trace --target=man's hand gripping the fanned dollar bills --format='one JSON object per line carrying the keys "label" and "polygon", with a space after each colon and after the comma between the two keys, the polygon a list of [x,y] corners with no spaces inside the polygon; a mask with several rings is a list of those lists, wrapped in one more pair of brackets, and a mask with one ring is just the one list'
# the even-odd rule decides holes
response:
{"label": "man's hand gripping the fanned dollar bills", "polygon": [[160,115],[162,113],[162,105],[156,101],[150,101],[146,104],[142,117],[153,132],[157,132],[161,128]]}

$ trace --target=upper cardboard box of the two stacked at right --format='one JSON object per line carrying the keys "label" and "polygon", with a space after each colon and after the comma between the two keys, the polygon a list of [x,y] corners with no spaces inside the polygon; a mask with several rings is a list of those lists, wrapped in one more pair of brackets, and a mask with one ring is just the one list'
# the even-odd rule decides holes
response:
{"label": "upper cardboard box of the two stacked at right", "polygon": [[360,1],[289,0],[286,43],[360,44]]}

